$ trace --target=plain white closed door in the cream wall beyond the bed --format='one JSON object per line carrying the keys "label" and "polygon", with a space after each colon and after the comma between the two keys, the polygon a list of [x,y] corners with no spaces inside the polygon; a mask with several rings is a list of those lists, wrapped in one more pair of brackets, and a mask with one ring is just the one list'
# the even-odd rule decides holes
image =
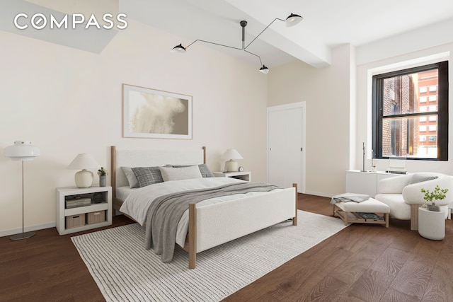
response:
{"label": "plain white closed door in the cream wall beyond the bed", "polygon": [[268,108],[268,182],[305,192],[304,102]]}

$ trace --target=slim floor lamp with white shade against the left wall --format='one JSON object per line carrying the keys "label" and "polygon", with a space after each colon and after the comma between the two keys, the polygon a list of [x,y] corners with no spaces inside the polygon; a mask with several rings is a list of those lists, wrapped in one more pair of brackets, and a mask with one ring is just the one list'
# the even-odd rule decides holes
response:
{"label": "slim floor lamp with white shade against the left wall", "polygon": [[14,141],[13,146],[5,148],[4,156],[11,158],[12,161],[22,161],[22,233],[13,235],[11,240],[21,240],[35,236],[35,232],[24,232],[23,228],[23,162],[33,161],[36,156],[40,156],[40,149],[33,146],[30,141]]}

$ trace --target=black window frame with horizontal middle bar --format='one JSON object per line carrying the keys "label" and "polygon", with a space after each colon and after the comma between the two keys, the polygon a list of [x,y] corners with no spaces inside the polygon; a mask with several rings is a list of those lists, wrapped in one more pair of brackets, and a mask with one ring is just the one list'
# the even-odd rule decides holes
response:
{"label": "black window frame with horizontal middle bar", "polygon": [[[408,160],[419,161],[448,161],[448,61],[417,66],[409,69],[391,71],[385,74],[377,74],[372,78],[372,149],[373,158],[389,158],[382,156],[382,120],[384,115],[383,88],[384,79],[394,76],[415,74],[432,69],[438,70],[437,81],[437,158],[408,157]],[[427,115],[427,112],[415,112],[409,114],[386,115],[388,117],[417,117]]]}

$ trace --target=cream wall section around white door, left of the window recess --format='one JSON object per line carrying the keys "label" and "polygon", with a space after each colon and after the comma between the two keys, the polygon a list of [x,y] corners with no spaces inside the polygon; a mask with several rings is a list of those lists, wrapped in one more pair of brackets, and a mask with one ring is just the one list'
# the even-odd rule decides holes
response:
{"label": "cream wall section around white door, left of the window recess", "polygon": [[268,106],[306,102],[306,193],[332,196],[344,191],[349,166],[351,88],[355,87],[350,45],[332,51],[331,66],[302,62],[268,74]]}

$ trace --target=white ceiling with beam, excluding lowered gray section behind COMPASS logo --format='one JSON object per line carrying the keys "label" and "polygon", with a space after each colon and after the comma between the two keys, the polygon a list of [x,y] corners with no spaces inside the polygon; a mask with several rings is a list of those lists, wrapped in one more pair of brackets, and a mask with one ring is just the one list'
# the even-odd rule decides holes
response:
{"label": "white ceiling with beam, excluding lowered gray section behind COMPASS logo", "polygon": [[[345,43],[359,47],[453,20],[453,1],[127,0],[120,1],[120,11],[183,37],[175,45],[185,46],[201,39],[234,47],[241,47],[239,21],[248,21],[247,45],[275,18],[285,19],[289,13],[297,13],[304,17],[301,23],[286,28],[285,23],[275,21],[248,50],[258,54],[270,68],[294,59],[321,67],[330,64],[331,47]],[[451,41],[452,30],[445,28]],[[256,57],[240,50],[208,46],[259,64]],[[190,51],[195,51],[195,45]]]}

